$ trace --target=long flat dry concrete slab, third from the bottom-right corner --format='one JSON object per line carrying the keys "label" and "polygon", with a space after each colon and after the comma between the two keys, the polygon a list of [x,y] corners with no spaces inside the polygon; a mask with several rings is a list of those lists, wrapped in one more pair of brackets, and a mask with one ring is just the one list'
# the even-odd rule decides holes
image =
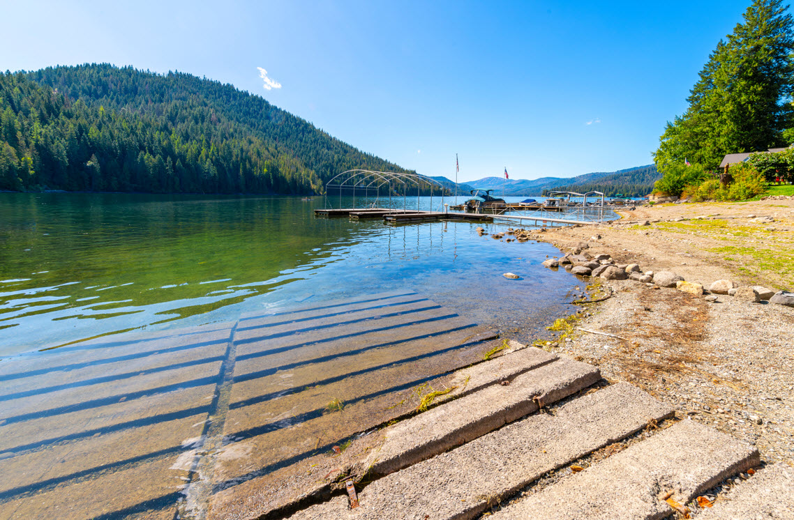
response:
{"label": "long flat dry concrete slab, third from the bottom-right corner", "polygon": [[489,502],[672,413],[646,392],[615,384],[567,403],[555,415],[533,415],[376,480],[360,491],[355,510],[342,497],[291,518],[475,518]]}

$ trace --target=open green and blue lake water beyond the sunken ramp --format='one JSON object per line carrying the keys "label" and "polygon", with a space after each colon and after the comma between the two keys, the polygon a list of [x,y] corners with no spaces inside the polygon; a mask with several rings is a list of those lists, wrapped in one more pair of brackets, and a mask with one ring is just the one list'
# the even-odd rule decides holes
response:
{"label": "open green and blue lake water beyond the sunken ramp", "polygon": [[[430,197],[418,203],[429,209]],[[578,283],[540,266],[558,253],[544,243],[483,238],[481,224],[315,218],[324,204],[0,193],[0,356],[391,289],[421,292],[478,323],[534,331],[565,309]],[[507,271],[522,280],[504,279]]]}

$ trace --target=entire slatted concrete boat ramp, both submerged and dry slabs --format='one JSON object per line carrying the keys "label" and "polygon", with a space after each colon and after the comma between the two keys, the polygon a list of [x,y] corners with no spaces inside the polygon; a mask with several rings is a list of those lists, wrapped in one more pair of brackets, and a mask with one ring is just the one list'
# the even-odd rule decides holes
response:
{"label": "entire slatted concrete boat ramp, both submerged and dry slabs", "polygon": [[[0,380],[0,518],[665,518],[759,465],[638,388],[415,292],[97,338],[4,360]],[[790,468],[773,482],[769,507],[791,511]],[[737,518],[720,505],[710,518]]]}

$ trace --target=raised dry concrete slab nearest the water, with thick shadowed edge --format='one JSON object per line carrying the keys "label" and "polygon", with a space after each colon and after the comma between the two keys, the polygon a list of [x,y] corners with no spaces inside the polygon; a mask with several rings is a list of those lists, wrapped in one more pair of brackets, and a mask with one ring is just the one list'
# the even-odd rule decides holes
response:
{"label": "raised dry concrete slab nearest the water, with thick shadowed edge", "polygon": [[433,408],[391,426],[380,449],[368,457],[372,476],[383,476],[433,457],[453,446],[538,411],[539,397],[550,404],[587,388],[601,378],[592,365],[560,359]]}

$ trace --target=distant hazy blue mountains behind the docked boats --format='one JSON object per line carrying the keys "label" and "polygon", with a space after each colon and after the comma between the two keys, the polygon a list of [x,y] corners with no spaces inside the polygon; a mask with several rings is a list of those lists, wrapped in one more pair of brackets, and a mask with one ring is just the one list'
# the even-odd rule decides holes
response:
{"label": "distant hazy blue mountains behind the docked boats", "polygon": [[653,183],[660,178],[656,166],[637,166],[626,170],[593,172],[572,178],[543,177],[538,179],[505,179],[486,177],[468,182],[475,188],[495,189],[496,195],[509,197],[531,197],[549,191],[575,191],[584,193],[600,191],[609,196],[622,193],[630,197],[641,197],[650,193]]}

